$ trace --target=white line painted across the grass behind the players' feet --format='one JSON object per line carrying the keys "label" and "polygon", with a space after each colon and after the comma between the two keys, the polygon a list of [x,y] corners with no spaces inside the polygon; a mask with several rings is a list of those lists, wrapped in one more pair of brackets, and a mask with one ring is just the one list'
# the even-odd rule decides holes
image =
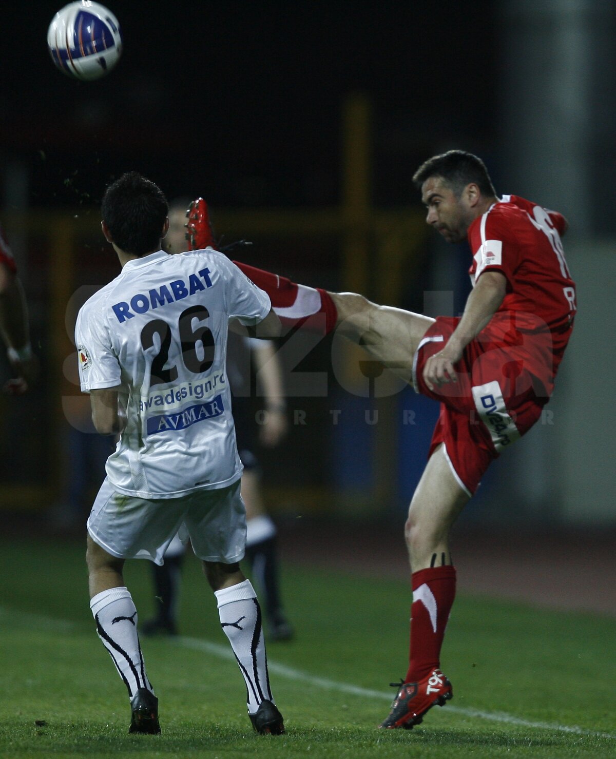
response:
{"label": "white line painted across the grass behind the players' feet", "polygon": [[[67,632],[71,628],[77,627],[74,622],[71,622],[68,619],[55,619],[54,617],[45,616],[43,614],[21,612],[18,609],[8,609],[0,606],[0,619],[3,617],[7,619],[7,621],[10,617],[18,617],[22,621],[30,623],[32,627],[44,627],[48,630],[55,629],[58,632]],[[168,640],[170,644],[182,648],[191,648],[193,650],[203,651],[204,653],[210,653],[212,656],[218,657],[219,659],[235,660],[231,648],[219,643],[211,643],[210,641],[205,641],[201,638],[185,638],[182,635],[179,635],[177,638],[169,638]],[[270,659],[267,660],[267,666],[270,669],[270,672],[280,675],[280,677],[286,677],[289,680],[296,680],[298,682],[305,682],[308,685],[314,685],[317,688],[324,688],[329,691],[339,691],[340,693],[348,693],[353,696],[361,696],[362,698],[378,698],[381,701],[392,701],[392,694],[387,694],[384,691],[374,691],[371,690],[371,688],[360,688],[359,685],[351,685],[346,682],[338,682],[324,677],[317,677],[308,672],[302,672],[301,669],[295,669],[286,666],[286,664],[273,662]],[[611,732],[599,732],[584,727],[578,727],[576,725],[532,722],[505,712],[486,712],[469,707],[456,707],[453,706],[453,704],[447,704],[447,711],[478,720],[488,720],[490,722],[504,723],[507,725],[517,725],[520,727],[529,727],[540,730],[554,730],[555,732],[567,732],[573,735],[592,735],[596,738],[616,740],[616,735]]]}

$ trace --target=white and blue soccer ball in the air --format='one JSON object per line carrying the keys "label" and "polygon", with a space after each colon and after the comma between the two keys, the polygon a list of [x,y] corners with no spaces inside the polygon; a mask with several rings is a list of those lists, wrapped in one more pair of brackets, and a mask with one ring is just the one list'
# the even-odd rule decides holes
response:
{"label": "white and blue soccer ball in the air", "polygon": [[52,18],[47,46],[60,71],[90,81],[104,77],[118,62],[122,32],[118,19],[104,5],[79,0]]}

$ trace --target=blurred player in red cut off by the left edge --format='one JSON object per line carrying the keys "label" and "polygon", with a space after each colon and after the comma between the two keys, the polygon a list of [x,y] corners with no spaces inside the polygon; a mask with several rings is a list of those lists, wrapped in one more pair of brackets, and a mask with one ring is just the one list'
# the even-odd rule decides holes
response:
{"label": "blurred player in red cut off by the left edge", "polygon": [[0,336],[4,341],[14,379],[5,383],[5,392],[21,395],[32,385],[38,362],[30,347],[28,310],[17,266],[0,228]]}

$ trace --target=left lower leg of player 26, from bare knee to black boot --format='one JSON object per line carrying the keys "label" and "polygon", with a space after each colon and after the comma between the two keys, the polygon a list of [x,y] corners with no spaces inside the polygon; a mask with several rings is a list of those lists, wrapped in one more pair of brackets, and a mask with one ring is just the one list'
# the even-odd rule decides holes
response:
{"label": "left lower leg of player 26, from bare knee to black boot", "polygon": [[[137,609],[122,580],[122,559],[110,556],[88,536],[90,609],[96,632],[109,651],[131,699],[128,732],[160,733],[158,699],[147,678],[137,635]],[[111,585],[111,587],[109,587]]]}

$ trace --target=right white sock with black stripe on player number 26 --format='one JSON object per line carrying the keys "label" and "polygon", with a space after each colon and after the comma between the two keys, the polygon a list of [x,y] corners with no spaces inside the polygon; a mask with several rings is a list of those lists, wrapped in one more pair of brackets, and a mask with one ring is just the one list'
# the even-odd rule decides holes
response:
{"label": "right white sock with black stripe on player number 26", "polygon": [[261,606],[249,580],[215,591],[220,625],[229,638],[246,682],[248,713],[261,701],[273,701],[261,626]]}

